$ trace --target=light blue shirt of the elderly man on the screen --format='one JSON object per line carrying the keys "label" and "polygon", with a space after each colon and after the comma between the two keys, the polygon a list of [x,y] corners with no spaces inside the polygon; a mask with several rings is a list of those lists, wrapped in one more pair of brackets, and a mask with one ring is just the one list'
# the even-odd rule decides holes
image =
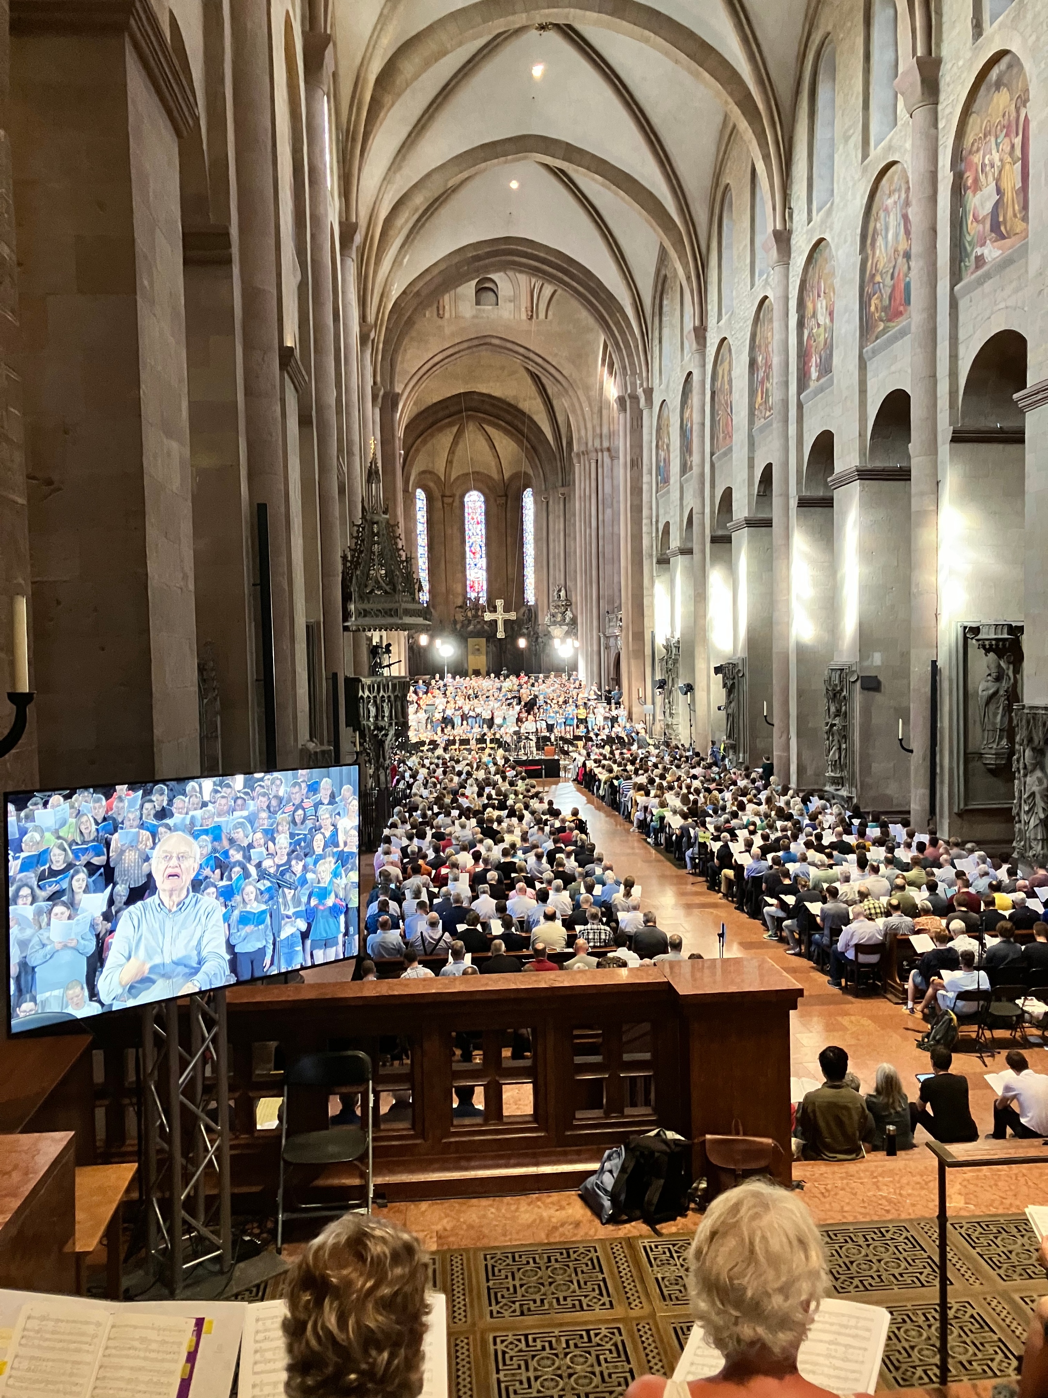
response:
{"label": "light blue shirt of the elderly man on the screen", "polygon": [[[120,984],[120,972],[131,960],[148,963],[148,973],[130,986]],[[222,910],[214,898],[187,893],[169,911],[159,898],[134,903],[116,924],[105,969],[98,977],[98,998],[145,1004],[182,993],[186,981],[200,990],[224,986],[229,976]]]}

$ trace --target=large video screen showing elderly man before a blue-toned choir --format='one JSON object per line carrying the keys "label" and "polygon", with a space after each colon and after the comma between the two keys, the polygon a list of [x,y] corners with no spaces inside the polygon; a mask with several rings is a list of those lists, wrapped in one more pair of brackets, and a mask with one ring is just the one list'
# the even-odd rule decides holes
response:
{"label": "large video screen showing elderly man before a blue-toned choir", "polygon": [[14,1032],[356,955],[355,766],[6,802]]}

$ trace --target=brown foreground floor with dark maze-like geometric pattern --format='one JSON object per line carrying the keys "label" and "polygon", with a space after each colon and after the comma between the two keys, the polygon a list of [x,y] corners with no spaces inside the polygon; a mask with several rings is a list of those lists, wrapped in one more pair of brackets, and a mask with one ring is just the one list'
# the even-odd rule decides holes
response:
{"label": "brown foreground floor with dark maze-like geometric pattern", "polygon": [[[936,1381],[933,1219],[823,1229],[834,1292],[891,1311],[879,1390]],[[450,1398],[622,1398],[671,1374],[690,1332],[687,1237],[436,1253]],[[1009,1378],[1048,1290],[1024,1215],[950,1225],[950,1378]]]}

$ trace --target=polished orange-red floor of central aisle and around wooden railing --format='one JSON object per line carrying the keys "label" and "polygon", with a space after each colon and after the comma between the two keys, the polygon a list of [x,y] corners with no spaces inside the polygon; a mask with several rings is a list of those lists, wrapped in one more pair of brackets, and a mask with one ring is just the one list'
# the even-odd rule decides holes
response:
{"label": "polished orange-red floor of central aisle and around wooden railing", "polygon": [[[847,1048],[851,1067],[862,1081],[864,1092],[872,1090],[879,1062],[898,1068],[903,1083],[915,1096],[915,1072],[928,1071],[928,1055],[914,1047],[922,1025],[898,1005],[886,1000],[843,995],[826,984],[826,976],[809,962],[784,955],[780,945],[763,939],[763,925],[736,913],[704,879],[690,878],[676,868],[618,815],[592,801],[585,791],[569,783],[551,783],[558,805],[567,811],[585,807],[584,816],[606,860],[619,877],[632,874],[641,885],[641,907],[653,909],[658,925],[667,932],[681,932],[685,952],[717,955],[720,924],[727,928],[725,955],[769,956],[783,966],[803,990],[792,1026],[791,1071],[796,1076],[817,1078],[819,1051],[829,1043]],[[1033,1048],[1031,1067],[1048,1072],[1048,1051]],[[1003,1068],[1002,1053],[988,1067],[975,1054],[956,1054],[954,1068],[967,1074],[971,1086],[973,1114],[982,1131],[992,1125],[994,1093],[984,1072]],[[803,1197],[820,1223],[864,1219],[898,1219],[931,1216],[936,1209],[935,1159],[918,1146],[896,1159],[872,1155],[851,1165],[801,1163],[794,1177],[803,1180]],[[952,1172],[950,1212],[987,1213],[1023,1209],[1027,1204],[1048,1204],[1048,1151],[1045,1169],[1007,1167],[999,1170]],[[457,1199],[407,1204],[390,1208],[390,1215],[407,1223],[426,1246],[449,1248],[510,1243],[555,1243],[576,1239],[647,1233],[644,1225],[601,1229],[574,1194],[518,1195],[499,1199]],[[678,1230],[692,1229],[697,1218],[682,1219]],[[674,1229],[668,1229],[674,1232]]]}

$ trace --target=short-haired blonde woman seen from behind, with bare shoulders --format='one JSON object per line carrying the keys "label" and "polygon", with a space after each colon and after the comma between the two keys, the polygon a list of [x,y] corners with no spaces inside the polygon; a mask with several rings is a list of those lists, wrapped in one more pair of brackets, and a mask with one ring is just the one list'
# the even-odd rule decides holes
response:
{"label": "short-haired blonde woman seen from behind, with bare shoulders", "polygon": [[796,1371],[796,1352],[829,1292],[819,1229],[796,1194],[755,1180],[706,1211],[689,1257],[692,1314],[724,1356],[711,1378],[683,1385],[648,1374],[627,1398],[823,1398]]}

